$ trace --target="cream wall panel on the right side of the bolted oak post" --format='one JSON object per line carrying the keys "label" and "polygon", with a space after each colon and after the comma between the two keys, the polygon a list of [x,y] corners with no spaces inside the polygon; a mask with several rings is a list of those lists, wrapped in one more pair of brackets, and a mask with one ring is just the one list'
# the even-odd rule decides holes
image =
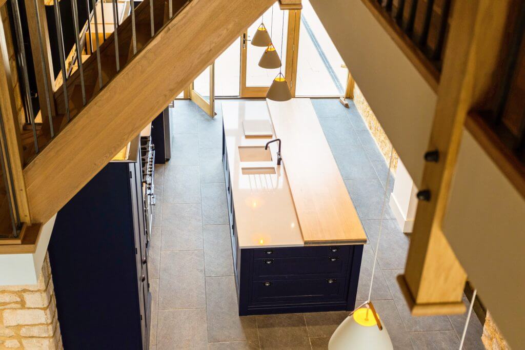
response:
{"label": "cream wall panel on the right side of the bolted oak post", "polygon": [[443,232],[509,345],[522,348],[525,199],[465,130]]}

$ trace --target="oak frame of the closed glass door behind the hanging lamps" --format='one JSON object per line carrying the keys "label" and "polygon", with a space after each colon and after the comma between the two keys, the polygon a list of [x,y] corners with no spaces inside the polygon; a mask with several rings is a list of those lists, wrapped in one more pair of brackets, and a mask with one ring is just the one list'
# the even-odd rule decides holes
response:
{"label": "oak frame of the closed glass door behind the hanging lamps", "polygon": [[[299,29],[301,24],[301,10],[288,11],[288,33],[286,42],[285,79],[290,87],[292,97],[295,97],[297,79],[297,57],[299,48]],[[240,37],[240,86],[241,98],[265,98],[269,86],[246,86],[246,64],[248,51],[248,33],[246,29]]]}

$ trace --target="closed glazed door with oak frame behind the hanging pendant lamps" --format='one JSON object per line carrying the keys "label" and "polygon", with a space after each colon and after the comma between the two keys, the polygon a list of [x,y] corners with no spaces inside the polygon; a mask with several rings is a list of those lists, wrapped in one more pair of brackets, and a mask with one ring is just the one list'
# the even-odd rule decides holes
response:
{"label": "closed glazed door with oak frame behind the hanging pendant lamps", "polygon": [[[282,73],[290,86],[292,96],[295,97],[301,10],[281,10],[279,2],[276,2],[273,5],[273,13],[272,19],[272,8],[270,7],[265,12],[264,24],[271,35],[272,43],[277,49],[279,57],[281,56],[282,44]],[[271,23],[272,20],[273,24]],[[259,59],[266,48],[253,46],[250,44],[250,40],[260,23],[261,18],[257,19],[241,36],[240,97],[264,98],[272,80],[279,73],[278,68],[265,69],[258,66]]]}

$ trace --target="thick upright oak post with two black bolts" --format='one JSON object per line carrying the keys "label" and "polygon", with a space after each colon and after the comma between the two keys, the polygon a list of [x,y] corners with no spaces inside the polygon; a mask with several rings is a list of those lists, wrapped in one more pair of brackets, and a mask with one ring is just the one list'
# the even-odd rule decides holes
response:
{"label": "thick upright oak post with two black bolts", "polygon": [[493,84],[510,2],[455,2],[428,145],[428,150],[439,151],[439,161],[425,163],[420,189],[428,189],[430,198],[418,203],[404,274],[413,314],[438,314],[444,307],[448,312],[464,310],[467,274],[442,223],[463,125],[469,110],[482,103]]}

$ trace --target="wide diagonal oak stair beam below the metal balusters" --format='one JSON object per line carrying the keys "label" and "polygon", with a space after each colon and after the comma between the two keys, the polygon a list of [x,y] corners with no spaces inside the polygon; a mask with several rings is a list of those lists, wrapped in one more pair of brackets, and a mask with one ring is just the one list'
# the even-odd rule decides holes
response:
{"label": "wide diagonal oak stair beam below the metal balusters", "polygon": [[26,166],[33,218],[53,216],[273,2],[188,3]]}

